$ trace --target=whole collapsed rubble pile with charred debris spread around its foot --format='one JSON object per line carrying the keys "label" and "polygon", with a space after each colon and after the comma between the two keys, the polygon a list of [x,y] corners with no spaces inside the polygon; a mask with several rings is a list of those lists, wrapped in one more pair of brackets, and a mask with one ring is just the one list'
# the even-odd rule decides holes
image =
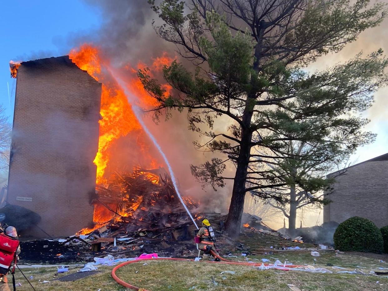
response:
{"label": "whole collapsed rubble pile with charred debris spread around its foot", "polygon": [[[236,244],[227,236],[223,229],[225,215],[199,212],[198,201],[182,198],[199,223],[203,217],[211,220],[217,234],[217,247],[230,249],[226,255],[232,252],[255,254],[243,243]],[[197,230],[163,168],[114,173],[107,184],[97,186],[93,203],[97,217],[94,227],[66,238],[24,242],[22,259],[57,264],[90,261],[95,257],[136,257],[143,253],[164,257],[197,256],[192,241]],[[255,215],[244,213],[243,221],[249,225],[242,228],[247,235],[269,234],[290,239],[272,230]],[[281,248],[286,249],[286,245]],[[277,246],[271,251],[277,251]]]}

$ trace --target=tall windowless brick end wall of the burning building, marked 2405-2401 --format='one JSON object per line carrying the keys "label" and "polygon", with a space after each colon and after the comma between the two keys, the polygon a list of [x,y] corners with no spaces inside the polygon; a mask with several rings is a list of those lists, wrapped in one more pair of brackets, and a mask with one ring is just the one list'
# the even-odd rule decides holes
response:
{"label": "tall windowless brick end wall of the burning building, marked 2405-2401", "polygon": [[93,221],[101,83],[69,57],[17,71],[7,203],[42,220],[24,236],[75,234]]}

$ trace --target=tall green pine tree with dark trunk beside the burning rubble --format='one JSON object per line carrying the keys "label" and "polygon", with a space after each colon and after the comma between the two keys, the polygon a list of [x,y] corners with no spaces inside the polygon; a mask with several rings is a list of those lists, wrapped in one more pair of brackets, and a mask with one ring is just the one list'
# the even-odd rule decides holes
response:
{"label": "tall green pine tree with dark trunk beside the burning rubble", "polygon": [[[387,63],[382,52],[357,55],[314,74],[303,69],[381,23],[385,4],[369,2],[192,0],[186,6],[179,0],[159,5],[149,0],[161,21],[154,23],[156,33],[175,43],[192,66],[179,61],[165,66],[163,76],[173,87],[171,95],[147,69],[139,71],[139,78],[159,101],[155,118],[187,108],[191,130],[209,138],[196,146],[219,153],[203,165],[191,165],[191,171],[214,188],[223,187],[225,179],[233,180],[225,222],[230,234],[239,233],[246,192],[279,199],[274,191],[298,182],[262,169],[270,163],[282,166],[272,161],[281,160],[281,155],[286,155],[284,166],[292,166],[297,156],[287,155],[287,144],[326,146],[323,140],[337,134],[353,140],[344,145],[352,148],[371,137],[359,130],[367,121],[351,113],[369,107],[372,92],[385,85]],[[213,128],[217,118],[229,125],[225,131]],[[349,123],[355,130],[349,134],[355,138],[346,137],[343,130]],[[257,149],[270,154],[258,159]],[[223,175],[227,163],[236,166],[234,177]]]}

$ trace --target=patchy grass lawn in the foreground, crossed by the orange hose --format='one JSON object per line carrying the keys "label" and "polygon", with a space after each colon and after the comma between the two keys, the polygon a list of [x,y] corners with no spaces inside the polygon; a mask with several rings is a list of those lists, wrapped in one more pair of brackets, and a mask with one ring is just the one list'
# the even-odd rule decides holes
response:
{"label": "patchy grass lawn in the foreground, crossed by the orange hose", "polygon": [[[354,270],[358,268],[365,273],[377,270],[377,267],[388,268],[388,263],[380,263],[368,254],[339,254],[334,251],[321,252],[321,256],[312,257],[309,253],[293,252],[266,256],[249,256],[254,262],[261,258],[268,258],[274,262],[274,257],[282,262],[287,260],[294,264],[308,264],[315,267],[324,267],[335,271],[331,266],[340,266]],[[377,255],[378,256],[378,255]],[[272,257],[272,258],[270,258]],[[245,261],[245,258],[232,258]],[[293,284],[301,290],[388,290],[388,279],[376,276],[352,275],[352,274],[312,274],[301,271],[257,270],[249,266],[208,264],[204,262],[182,261],[146,261],[133,263],[120,268],[116,274],[122,280],[140,288],[152,291],[184,291],[184,290],[289,290],[287,284]],[[360,268],[363,267],[363,268]],[[99,267],[104,272],[74,282],[52,281],[53,279],[76,272],[74,268],[66,274],[56,273],[56,268],[28,268],[22,269],[26,277],[33,276],[31,280],[38,290],[126,290],[118,285],[111,277],[113,267]],[[220,274],[223,271],[234,271],[235,274]],[[380,270],[382,271],[382,270]],[[49,283],[40,283],[47,280]],[[379,281],[379,283],[376,283]],[[17,287],[18,291],[31,290],[19,270],[16,270],[16,282],[23,286]],[[194,289],[193,289],[194,287]],[[192,288],[192,289],[190,289]]]}

